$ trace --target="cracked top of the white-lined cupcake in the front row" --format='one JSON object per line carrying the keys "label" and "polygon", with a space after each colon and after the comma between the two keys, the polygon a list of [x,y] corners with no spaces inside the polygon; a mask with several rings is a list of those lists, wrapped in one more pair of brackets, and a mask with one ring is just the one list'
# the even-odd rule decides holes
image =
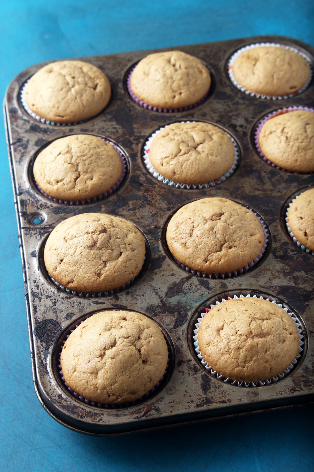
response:
{"label": "cracked top of the white-lined cupcake in the front row", "polygon": [[297,327],[282,308],[260,298],[227,300],[198,331],[201,355],[225,379],[257,382],[281,374],[298,353]]}

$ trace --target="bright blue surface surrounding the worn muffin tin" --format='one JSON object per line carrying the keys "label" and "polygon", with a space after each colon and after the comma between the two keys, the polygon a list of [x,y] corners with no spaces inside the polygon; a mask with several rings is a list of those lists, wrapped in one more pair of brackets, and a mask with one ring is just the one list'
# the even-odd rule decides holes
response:
{"label": "bright blue surface surrounding the worn muffin tin", "polygon": [[[314,46],[312,1],[3,0],[0,89],[38,62],[260,34]],[[54,421],[32,385],[16,216],[0,128],[1,471],[313,471],[314,410],[287,410],[94,438]],[[314,379],[312,379],[313,381]]]}

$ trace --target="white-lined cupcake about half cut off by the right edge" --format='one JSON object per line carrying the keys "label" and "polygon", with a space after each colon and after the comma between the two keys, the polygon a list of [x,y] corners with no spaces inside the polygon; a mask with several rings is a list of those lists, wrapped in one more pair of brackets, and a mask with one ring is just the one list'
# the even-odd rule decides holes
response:
{"label": "white-lined cupcake about half cut off by the right edge", "polygon": [[306,190],[290,204],[287,223],[301,247],[314,252],[314,188]]}

